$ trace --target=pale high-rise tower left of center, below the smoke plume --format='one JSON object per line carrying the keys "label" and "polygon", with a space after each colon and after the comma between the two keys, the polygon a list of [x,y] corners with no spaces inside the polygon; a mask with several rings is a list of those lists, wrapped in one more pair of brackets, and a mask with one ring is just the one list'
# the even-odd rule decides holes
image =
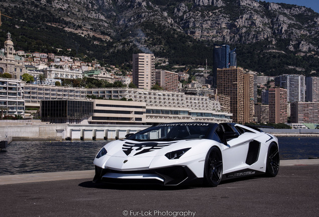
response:
{"label": "pale high-rise tower left of center, below the smoke plume", "polygon": [[133,84],[150,89],[155,84],[155,58],[153,54],[133,54]]}

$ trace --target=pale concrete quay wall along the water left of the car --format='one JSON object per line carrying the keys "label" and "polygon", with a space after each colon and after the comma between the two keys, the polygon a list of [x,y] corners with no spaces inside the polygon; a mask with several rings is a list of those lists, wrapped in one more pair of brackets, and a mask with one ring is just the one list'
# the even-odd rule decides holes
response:
{"label": "pale concrete quay wall along the water left of the car", "polygon": [[11,137],[13,141],[33,140],[115,140],[126,134],[136,133],[148,125],[77,125],[45,124],[1,126],[0,138]]}

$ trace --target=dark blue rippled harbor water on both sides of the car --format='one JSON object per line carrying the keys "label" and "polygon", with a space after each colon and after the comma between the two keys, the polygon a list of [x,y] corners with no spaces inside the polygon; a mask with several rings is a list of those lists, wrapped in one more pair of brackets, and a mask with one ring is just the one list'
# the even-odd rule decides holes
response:
{"label": "dark blue rippled harbor water on both sides of the car", "polygon": [[[281,160],[319,157],[319,137],[278,137]],[[14,141],[0,152],[0,175],[94,169],[110,141]]]}

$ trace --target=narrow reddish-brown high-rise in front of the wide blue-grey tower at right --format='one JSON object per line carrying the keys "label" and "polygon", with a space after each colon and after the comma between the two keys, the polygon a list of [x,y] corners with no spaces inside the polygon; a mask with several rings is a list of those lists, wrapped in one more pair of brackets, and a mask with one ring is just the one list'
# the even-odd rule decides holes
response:
{"label": "narrow reddish-brown high-rise in front of the wide blue-grey tower at right", "polygon": [[269,89],[269,122],[287,122],[287,90],[283,88]]}

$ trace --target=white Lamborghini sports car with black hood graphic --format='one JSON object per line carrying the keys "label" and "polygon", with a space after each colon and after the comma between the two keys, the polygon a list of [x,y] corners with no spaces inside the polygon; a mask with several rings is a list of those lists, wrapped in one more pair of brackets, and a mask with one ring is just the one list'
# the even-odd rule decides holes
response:
{"label": "white Lamborghini sports car with black hood graphic", "polygon": [[234,123],[169,123],[107,143],[94,159],[93,182],[200,184],[279,170],[276,137]]}

